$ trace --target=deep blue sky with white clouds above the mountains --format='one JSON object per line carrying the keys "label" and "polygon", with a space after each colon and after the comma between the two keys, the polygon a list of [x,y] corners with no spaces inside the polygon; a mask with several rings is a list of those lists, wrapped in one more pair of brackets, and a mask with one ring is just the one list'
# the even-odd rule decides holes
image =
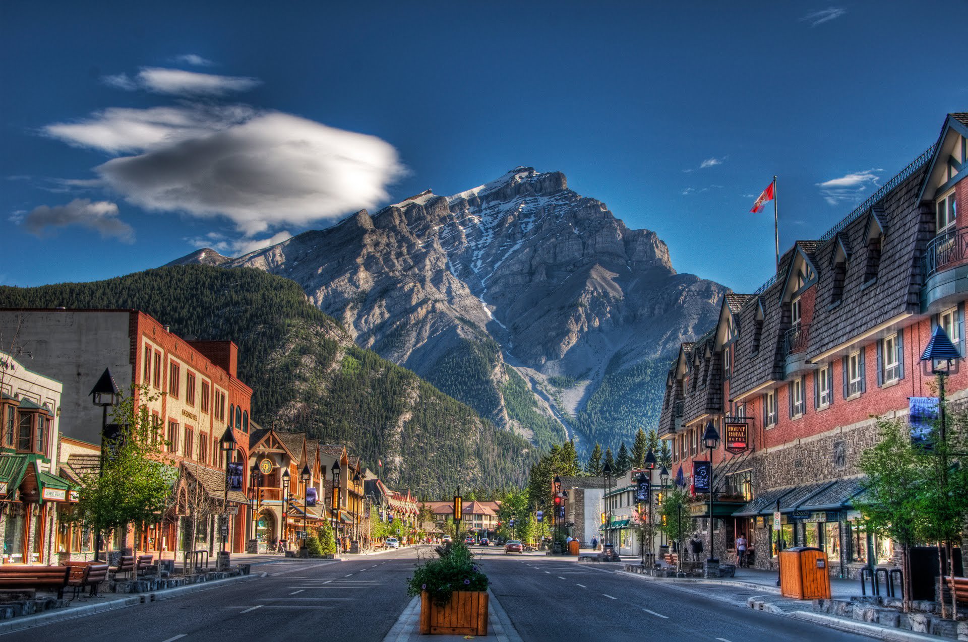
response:
{"label": "deep blue sky with white clouds above the mountains", "polygon": [[0,284],[237,254],[524,164],[750,291],[773,174],[782,251],[968,110],[966,23],[965,0],[4,3]]}

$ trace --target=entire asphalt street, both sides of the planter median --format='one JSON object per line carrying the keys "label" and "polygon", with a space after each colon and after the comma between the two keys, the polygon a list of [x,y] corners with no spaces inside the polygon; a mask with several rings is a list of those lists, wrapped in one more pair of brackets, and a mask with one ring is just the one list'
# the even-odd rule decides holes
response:
{"label": "entire asphalt street, both sides of the planter median", "polygon": [[[29,631],[12,640],[382,640],[409,603],[405,581],[420,555],[406,548],[338,563],[282,560],[264,577]],[[611,569],[474,546],[491,590],[526,642],[660,636],[663,640],[862,640],[741,607],[716,589],[650,584]],[[733,592],[735,595],[737,592]]]}

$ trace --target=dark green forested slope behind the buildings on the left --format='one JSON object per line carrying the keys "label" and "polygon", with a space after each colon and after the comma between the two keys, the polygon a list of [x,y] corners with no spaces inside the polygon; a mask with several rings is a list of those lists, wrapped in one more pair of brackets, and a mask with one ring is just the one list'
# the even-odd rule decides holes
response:
{"label": "dark green forested slope behind the buildings on the left", "polygon": [[265,426],[342,443],[391,487],[445,496],[520,486],[536,452],[417,375],[355,345],[291,280],[188,265],[90,283],[0,287],[4,307],[137,308],[180,336],[231,339]]}

